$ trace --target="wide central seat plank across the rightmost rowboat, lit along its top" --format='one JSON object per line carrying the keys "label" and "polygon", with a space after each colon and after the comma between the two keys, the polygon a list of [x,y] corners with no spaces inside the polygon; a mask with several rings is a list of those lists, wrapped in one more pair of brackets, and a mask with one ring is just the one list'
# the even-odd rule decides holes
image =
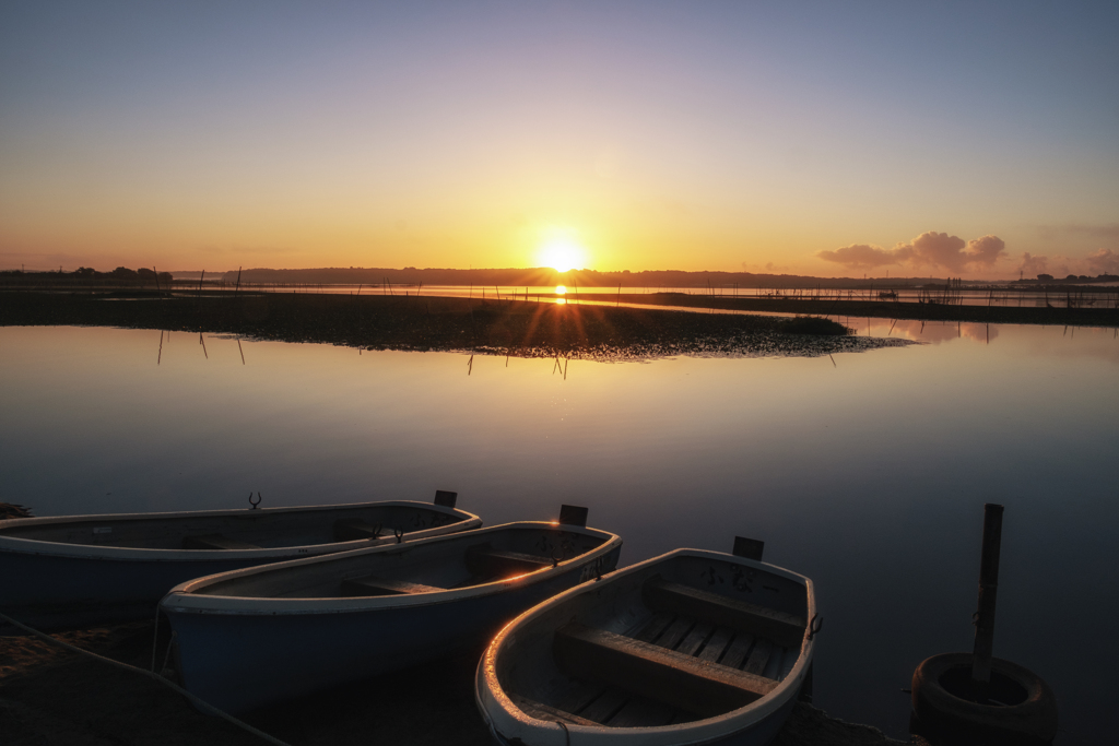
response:
{"label": "wide central seat plank across the rightmost rowboat, lit along its top", "polygon": [[553,654],[567,676],[601,681],[711,717],[768,695],[775,681],[572,622],[556,631]]}

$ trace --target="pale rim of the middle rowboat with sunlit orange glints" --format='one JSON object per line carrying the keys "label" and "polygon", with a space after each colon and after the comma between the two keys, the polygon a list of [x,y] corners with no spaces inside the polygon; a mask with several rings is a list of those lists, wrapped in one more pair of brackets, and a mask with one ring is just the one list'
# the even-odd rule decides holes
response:
{"label": "pale rim of the middle rowboat with sunlit orange glints", "polygon": [[[300,567],[316,563],[345,561],[347,559],[367,554],[392,554],[394,551],[406,553],[435,544],[439,541],[464,540],[468,537],[483,537],[489,533],[508,529],[554,529],[571,533],[582,533],[584,536],[604,539],[601,545],[593,549],[576,555],[571,559],[561,560],[553,567],[543,567],[513,578],[480,583],[463,588],[448,588],[445,591],[431,591],[423,593],[412,593],[404,595],[388,596],[327,596],[318,598],[276,598],[262,596],[215,596],[199,593],[198,589],[207,585],[225,580],[239,579],[252,575],[260,575],[267,572],[282,570],[290,567]],[[520,588],[537,583],[544,583],[563,573],[571,572],[580,566],[586,566],[606,556],[614,549],[620,548],[622,539],[617,533],[602,529],[587,528],[583,526],[572,526],[556,523],[555,521],[514,521],[501,523],[488,528],[477,528],[469,531],[459,531],[446,536],[435,536],[424,539],[407,541],[404,545],[388,545],[376,547],[363,547],[348,551],[339,551],[328,556],[298,557],[282,563],[260,565],[244,569],[217,573],[206,577],[194,578],[180,583],[163,596],[160,601],[160,608],[168,613],[181,614],[207,614],[224,616],[257,616],[257,615],[300,615],[300,614],[347,614],[387,608],[403,608],[445,604],[462,601],[464,598],[483,597],[502,593],[511,588]]]}

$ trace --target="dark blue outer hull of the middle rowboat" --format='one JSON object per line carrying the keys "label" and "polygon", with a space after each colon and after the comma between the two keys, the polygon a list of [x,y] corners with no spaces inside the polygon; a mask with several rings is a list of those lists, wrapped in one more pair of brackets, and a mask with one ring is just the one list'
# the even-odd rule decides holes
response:
{"label": "dark blue outer hull of the middle rowboat", "polygon": [[[496,530],[417,541],[413,546]],[[379,550],[284,565],[345,561],[349,555],[367,551]],[[177,670],[184,687],[219,709],[242,712],[445,655],[480,652],[505,623],[524,610],[615,567],[620,551],[621,541],[613,537],[581,561],[540,570],[539,577],[525,575],[477,589],[425,593],[425,598],[406,597],[399,605],[384,596],[368,602],[309,602],[316,608],[299,604],[292,608],[284,598],[223,598],[222,604],[206,608],[198,605],[205,606],[205,602],[194,603],[177,588],[161,608],[176,633]],[[283,567],[275,565],[266,570]]]}

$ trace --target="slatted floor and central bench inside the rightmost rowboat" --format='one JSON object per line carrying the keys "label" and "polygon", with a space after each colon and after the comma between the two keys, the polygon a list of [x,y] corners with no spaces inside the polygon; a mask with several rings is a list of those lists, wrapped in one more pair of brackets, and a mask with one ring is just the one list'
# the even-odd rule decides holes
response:
{"label": "slatted floor and central bench inside the rightmost rowboat", "polygon": [[749,625],[720,624],[712,616],[660,610],[626,634],[571,622],[553,639],[564,681],[549,701],[518,692],[509,697],[543,720],[657,727],[737,709],[769,693],[792,670],[800,652],[794,641],[772,630],[759,634]]}

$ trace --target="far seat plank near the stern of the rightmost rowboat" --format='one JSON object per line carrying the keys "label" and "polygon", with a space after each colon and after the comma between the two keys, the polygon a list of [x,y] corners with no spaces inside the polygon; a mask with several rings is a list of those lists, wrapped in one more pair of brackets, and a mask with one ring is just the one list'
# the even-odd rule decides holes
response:
{"label": "far seat plank near the stern of the rightmost rowboat", "polygon": [[800,616],[750,604],[683,583],[669,583],[660,575],[645,582],[641,597],[658,611],[688,614],[714,624],[767,638],[782,648],[799,646],[807,623]]}

